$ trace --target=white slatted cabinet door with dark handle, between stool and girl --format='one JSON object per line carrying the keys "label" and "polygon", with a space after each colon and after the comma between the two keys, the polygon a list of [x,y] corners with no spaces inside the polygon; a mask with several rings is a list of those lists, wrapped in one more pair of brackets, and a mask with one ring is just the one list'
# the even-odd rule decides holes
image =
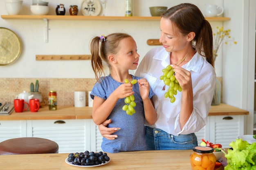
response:
{"label": "white slatted cabinet door with dark handle, between stool and girl", "polygon": [[90,120],[27,120],[27,137],[56,142],[59,153],[90,150]]}

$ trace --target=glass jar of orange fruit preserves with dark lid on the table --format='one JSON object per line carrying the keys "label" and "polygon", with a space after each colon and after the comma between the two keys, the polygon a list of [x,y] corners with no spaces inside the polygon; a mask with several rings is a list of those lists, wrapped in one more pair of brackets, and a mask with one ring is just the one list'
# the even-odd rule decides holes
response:
{"label": "glass jar of orange fruit preserves with dark lid on the table", "polygon": [[213,154],[213,148],[208,146],[195,146],[190,155],[192,170],[214,170],[216,157]]}

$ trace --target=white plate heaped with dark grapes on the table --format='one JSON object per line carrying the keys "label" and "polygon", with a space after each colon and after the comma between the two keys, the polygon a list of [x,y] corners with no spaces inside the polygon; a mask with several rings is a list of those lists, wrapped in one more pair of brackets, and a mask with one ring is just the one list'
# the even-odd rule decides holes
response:
{"label": "white plate heaped with dark grapes on the table", "polygon": [[86,150],[81,153],[70,153],[65,159],[67,164],[79,167],[94,167],[106,165],[110,162],[110,158],[107,153],[103,152],[89,152]]}

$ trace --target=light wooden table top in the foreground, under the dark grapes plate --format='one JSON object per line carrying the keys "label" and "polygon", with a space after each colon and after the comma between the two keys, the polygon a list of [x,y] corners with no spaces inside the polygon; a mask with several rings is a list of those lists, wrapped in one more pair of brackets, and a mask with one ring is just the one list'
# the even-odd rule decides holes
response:
{"label": "light wooden table top in the foreground, under the dark grapes plate", "polygon": [[[108,153],[110,162],[93,170],[191,170],[192,150],[146,150]],[[0,155],[1,170],[82,170],[65,162],[68,153]],[[223,169],[223,166],[221,167]],[[221,170],[218,168],[218,170]]]}

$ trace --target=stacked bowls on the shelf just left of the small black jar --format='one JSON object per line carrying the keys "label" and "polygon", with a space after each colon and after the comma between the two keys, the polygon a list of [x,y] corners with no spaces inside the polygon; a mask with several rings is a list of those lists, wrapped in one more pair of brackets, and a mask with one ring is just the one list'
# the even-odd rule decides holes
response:
{"label": "stacked bowls on the shelf just left of the small black jar", "polygon": [[48,7],[49,2],[42,0],[32,0],[32,5],[30,6],[30,11],[34,15],[47,15],[50,8]]}

